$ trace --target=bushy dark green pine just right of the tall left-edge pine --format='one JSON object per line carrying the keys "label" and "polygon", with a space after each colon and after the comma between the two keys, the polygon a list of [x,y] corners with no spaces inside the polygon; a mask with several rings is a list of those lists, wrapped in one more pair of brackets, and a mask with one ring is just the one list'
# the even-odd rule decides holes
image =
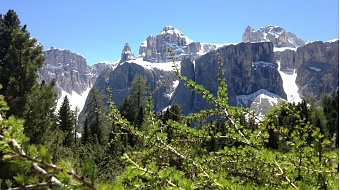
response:
{"label": "bushy dark green pine just right of the tall left-edge pine", "polygon": [[32,92],[26,96],[24,133],[30,137],[31,143],[45,144],[50,140],[56,118],[57,94],[53,90],[54,85],[54,80],[50,84],[42,81],[41,84],[34,85]]}

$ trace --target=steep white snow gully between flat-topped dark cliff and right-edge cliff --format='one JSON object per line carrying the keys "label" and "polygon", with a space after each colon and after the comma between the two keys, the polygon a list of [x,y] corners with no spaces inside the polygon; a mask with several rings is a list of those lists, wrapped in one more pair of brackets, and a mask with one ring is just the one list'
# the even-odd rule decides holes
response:
{"label": "steep white snow gully between flat-topped dark cliff and right-edge cliff", "polygon": [[295,69],[286,69],[285,71],[281,71],[281,62],[277,61],[277,64],[279,65],[278,71],[282,78],[283,89],[287,94],[287,101],[296,104],[301,102],[302,99],[298,93],[299,87],[295,83],[297,76]]}

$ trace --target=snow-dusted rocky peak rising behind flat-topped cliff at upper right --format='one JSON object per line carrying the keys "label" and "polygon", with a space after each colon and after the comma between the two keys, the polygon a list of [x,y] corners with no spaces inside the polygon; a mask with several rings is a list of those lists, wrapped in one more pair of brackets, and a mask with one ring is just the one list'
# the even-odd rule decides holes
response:
{"label": "snow-dusted rocky peak rising behind flat-topped cliff at upper right", "polygon": [[279,26],[261,27],[256,30],[248,26],[242,36],[242,42],[272,42],[275,47],[300,47],[305,42],[291,32]]}

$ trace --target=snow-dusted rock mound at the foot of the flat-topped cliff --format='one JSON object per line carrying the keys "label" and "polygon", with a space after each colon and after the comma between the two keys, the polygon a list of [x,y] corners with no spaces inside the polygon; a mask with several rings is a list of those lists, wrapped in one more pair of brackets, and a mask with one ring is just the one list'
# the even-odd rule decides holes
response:
{"label": "snow-dusted rock mound at the foot of the flat-topped cliff", "polygon": [[261,95],[262,98],[268,99],[269,102],[271,102],[271,105],[276,105],[278,103],[278,99],[282,99],[282,97],[277,94],[271,93],[265,89],[261,89],[248,95],[236,95],[237,106],[249,107],[249,105],[258,95]]}

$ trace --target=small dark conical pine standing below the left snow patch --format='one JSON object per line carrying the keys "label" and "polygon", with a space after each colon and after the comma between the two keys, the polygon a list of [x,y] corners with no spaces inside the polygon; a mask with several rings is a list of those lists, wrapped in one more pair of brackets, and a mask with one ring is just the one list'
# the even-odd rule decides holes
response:
{"label": "small dark conical pine standing below the left snow patch", "polygon": [[74,114],[70,108],[67,96],[64,97],[58,113],[58,128],[65,134],[64,146],[71,146],[74,142]]}

